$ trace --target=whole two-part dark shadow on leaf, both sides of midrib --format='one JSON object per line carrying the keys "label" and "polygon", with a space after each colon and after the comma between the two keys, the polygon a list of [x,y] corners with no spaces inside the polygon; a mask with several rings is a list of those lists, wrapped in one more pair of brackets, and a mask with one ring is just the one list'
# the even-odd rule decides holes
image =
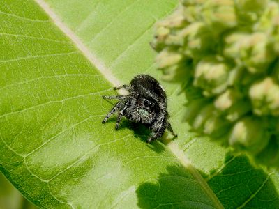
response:
{"label": "whole two-part dark shadow on leaf, both sides of midrib", "polygon": [[[200,172],[224,208],[279,208],[279,195],[271,178],[254,167],[246,155],[228,153],[224,167],[211,175]],[[167,167],[156,180],[137,188],[140,208],[213,208],[199,183],[184,167]]]}

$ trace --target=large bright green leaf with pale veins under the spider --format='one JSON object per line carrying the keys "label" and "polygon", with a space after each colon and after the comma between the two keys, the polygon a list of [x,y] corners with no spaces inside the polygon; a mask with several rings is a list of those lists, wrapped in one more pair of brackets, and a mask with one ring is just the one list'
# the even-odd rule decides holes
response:
{"label": "large bright green leaf with pale veins under the spider", "polygon": [[162,82],[178,139],[146,144],[141,126],[100,123],[112,86],[160,78],[149,41],[176,3],[0,3],[0,169],[37,206],[279,207],[278,171],[190,133],[176,84]]}

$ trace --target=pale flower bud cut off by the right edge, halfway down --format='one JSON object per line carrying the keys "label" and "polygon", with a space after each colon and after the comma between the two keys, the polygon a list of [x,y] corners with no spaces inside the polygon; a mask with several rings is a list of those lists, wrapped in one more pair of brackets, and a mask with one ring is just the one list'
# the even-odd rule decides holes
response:
{"label": "pale flower bud cut off by the right edge, halfway down", "polygon": [[249,97],[255,114],[279,116],[279,85],[271,77],[252,84]]}

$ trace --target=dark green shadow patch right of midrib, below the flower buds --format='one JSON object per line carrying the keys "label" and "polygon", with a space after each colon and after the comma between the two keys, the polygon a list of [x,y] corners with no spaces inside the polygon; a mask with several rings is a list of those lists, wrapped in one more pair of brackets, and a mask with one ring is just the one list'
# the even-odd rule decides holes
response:
{"label": "dark green shadow patch right of midrib, below the flower buds", "polygon": [[206,180],[225,208],[279,208],[273,175],[255,167],[246,155],[227,153],[223,169]]}

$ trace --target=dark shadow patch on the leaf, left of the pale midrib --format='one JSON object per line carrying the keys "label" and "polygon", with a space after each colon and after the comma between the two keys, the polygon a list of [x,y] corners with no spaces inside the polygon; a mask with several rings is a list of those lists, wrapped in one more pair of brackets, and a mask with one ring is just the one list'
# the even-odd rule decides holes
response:
{"label": "dark shadow patch on the leaf, left of the pale midrib", "polygon": [[213,208],[202,187],[182,166],[169,166],[158,180],[137,188],[140,208]]}

